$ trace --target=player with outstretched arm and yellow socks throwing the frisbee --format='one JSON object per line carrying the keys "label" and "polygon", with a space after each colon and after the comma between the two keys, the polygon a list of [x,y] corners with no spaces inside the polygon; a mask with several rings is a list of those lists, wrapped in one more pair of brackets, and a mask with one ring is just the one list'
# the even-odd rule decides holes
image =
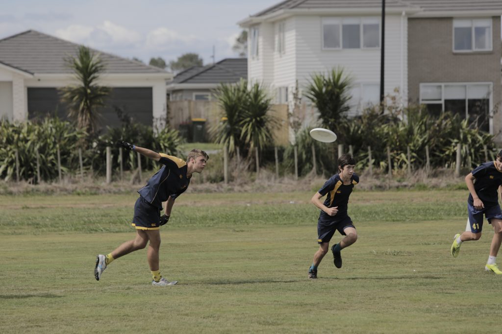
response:
{"label": "player with outstretched arm and yellow socks throwing the frisbee", "polygon": [[[147,258],[152,272],[152,284],[157,286],[174,285],[177,281],[168,281],[162,277],[159,270],[160,226],[166,224],[171,216],[174,201],[190,184],[193,173],[201,173],[206,166],[209,155],[200,149],[192,149],[186,162],[175,156],[157,153],[148,148],[138,147],[125,141],[119,143],[123,148],[133,150],[164,164],[162,168],[148,180],[145,187],[138,193],[140,197],[134,206],[132,225],[136,228],[136,238],[126,241],[108,255],[99,254],[96,257],[94,276],[96,280],[106,267],[121,256],[143,249],[150,241]],[[161,217],[162,203],[165,202],[165,212]]]}

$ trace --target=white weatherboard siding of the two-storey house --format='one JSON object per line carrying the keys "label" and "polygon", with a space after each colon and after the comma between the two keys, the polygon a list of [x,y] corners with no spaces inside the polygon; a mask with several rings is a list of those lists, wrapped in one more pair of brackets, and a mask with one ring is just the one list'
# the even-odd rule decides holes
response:
{"label": "white weatherboard siding of the two-storey house", "polygon": [[[296,80],[305,88],[313,73],[325,73],[341,66],[351,75],[354,84],[380,85],[380,48],[375,49],[322,49],[322,18],[320,16],[295,16],[285,22],[285,53],[276,51],[277,25],[281,22],[262,23],[259,37],[259,56],[249,59],[250,82],[270,86],[272,95],[278,87],[288,87],[289,95]],[[362,16],[363,18],[363,16]],[[393,94],[398,88],[407,96],[407,17],[386,17],[385,93]],[[270,74],[273,73],[271,76]],[[406,99],[403,99],[406,103]]]}

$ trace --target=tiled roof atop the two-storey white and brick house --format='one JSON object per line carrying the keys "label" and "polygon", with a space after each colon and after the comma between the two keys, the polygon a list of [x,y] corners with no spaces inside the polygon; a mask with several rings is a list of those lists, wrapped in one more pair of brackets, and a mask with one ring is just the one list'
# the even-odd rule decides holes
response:
{"label": "tiled roof atop the two-storey white and brick house", "polygon": [[[409,8],[423,12],[501,11],[500,0],[386,0],[386,8]],[[280,10],[302,9],[375,9],[382,0],[286,0],[252,17],[260,17]]]}

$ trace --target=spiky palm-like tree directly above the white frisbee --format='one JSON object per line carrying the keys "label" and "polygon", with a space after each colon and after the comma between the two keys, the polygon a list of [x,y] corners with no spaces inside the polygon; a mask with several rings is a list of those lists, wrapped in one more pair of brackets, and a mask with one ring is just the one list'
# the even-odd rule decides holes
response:
{"label": "spiky palm-like tree directly above the white frisbee", "polygon": [[328,74],[316,73],[311,76],[306,96],[319,110],[322,125],[338,133],[347,118],[351,96],[351,78],[343,68],[334,68]]}

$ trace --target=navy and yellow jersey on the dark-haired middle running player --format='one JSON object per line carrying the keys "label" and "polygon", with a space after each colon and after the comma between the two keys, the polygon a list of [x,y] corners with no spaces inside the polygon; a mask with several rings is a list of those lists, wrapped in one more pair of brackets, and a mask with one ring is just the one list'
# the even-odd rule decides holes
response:
{"label": "navy and yellow jersey on the dark-haired middle running player", "polygon": [[324,205],[328,208],[338,207],[338,213],[334,216],[329,216],[321,210],[320,220],[332,221],[347,215],[348,198],[352,193],[352,189],[359,183],[359,176],[355,173],[350,178],[350,184],[344,185],[342,179],[338,174],[333,175],[328,181],[319,189],[319,194],[326,196]]}

